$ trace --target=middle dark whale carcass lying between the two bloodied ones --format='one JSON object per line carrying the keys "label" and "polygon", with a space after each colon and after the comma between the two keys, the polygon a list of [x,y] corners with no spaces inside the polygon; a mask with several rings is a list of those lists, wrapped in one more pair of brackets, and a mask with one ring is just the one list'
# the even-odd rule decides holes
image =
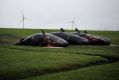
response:
{"label": "middle dark whale carcass lying between the two bloodied ones", "polygon": [[88,39],[75,34],[67,33],[62,28],[60,30],[61,32],[52,32],[51,34],[63,38],[64,40],[68,41],[68,43],[71,45],[88,44]]}

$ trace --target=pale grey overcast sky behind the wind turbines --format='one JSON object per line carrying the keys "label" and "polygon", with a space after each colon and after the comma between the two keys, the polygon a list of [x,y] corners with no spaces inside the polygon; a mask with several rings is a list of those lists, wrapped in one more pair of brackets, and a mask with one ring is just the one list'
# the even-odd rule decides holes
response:
{"label": "pale grey overcast sky behind the wind turbines", "polygon": [[119,0],[0,0],[0,28],[22,28],[21,11],[25,28],[119,31]]}

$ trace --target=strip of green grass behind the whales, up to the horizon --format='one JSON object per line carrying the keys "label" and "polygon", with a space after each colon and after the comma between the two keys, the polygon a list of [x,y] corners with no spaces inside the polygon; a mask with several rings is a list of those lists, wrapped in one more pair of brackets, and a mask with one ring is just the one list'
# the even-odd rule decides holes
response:
{"label": "strip of green grass behind the whales, up to the horizon", "polygon": [[[56,32],[59,30],[48,30],[45,29],[45,32]],[[71,30],[66,30],[67,32],[72,32]],[[20,38],[32,35],[34,33],[39,33],[41,32],[40,29],[5,29],[5,28],[1,28],[0,29],[0,36],[1,35],[11,35],[12,36],[12,40],[11,38],[8,36],[6,37],[5,41],[2,40],[3,38],[0,39],[0,42],[7,42],[7,43],[11,43],[11,42],[17,42]],[[90,34],[95,34],[95,35],[100,35],[100,36],[104,36],[107,37],[109,39],[111,39],[112,44],[119,44],[119,31],[89,31]],[[16,37],[13,37],[16,36]],[[9,40],[8,40],[9,39]],[[14,40],[13,40],[14,39]]]}

